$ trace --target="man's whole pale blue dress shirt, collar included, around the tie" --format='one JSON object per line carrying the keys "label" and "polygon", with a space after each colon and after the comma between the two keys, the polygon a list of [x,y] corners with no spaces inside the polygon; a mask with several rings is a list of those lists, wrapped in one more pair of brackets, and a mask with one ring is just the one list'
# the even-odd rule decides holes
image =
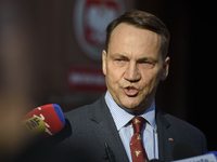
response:
{"label": "man's whole pale blue dress shirt, collar included, around the tie", "polygon": [[[133,135],[133,129],[130,124],[130,121],[132,118],[135,118],[135,114],[131,114],[120,108],[112,98],[108,91],[105,94],[105,103],[110,108],[127,156],[130,162],[132,162],[130,140]],[[141,134],[142,143],[146,151],[148,158],[149,160],[158,159],[157,127],[155,121],[155,99],[153,100],[149,109],[140,114],[140,117],[143,117],[148,121],[146,124],[143,125]]]}

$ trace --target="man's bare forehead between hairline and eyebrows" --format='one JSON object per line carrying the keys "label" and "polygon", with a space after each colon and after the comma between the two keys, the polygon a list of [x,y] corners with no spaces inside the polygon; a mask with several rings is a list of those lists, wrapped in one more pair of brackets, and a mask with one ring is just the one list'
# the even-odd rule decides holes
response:
{"label": "man's bare forehead between hairline and eyebrows", "polygon": [[120,53],[133,56],[157,57],[162,38],[159,35],[137,28],[125,23],[119,24],[112,32],[108,44],[110,53]]}

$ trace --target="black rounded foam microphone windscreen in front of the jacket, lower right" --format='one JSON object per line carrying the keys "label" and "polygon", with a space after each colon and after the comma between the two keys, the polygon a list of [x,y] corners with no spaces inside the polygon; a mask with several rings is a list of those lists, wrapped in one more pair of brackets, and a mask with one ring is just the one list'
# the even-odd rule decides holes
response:
{"label": "black rounded foam microphone windscreen in front of the jacket, lower right", "polygon": [[177,143],[173,150],[174,160],[200,156],[195,147],[187,141]]}

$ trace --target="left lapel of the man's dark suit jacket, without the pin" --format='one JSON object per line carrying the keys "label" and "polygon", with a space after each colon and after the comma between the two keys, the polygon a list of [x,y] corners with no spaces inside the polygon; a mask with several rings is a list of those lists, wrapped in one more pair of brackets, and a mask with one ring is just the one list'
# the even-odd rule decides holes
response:
{"label": "left lapel of the man's dark suit jacket, without the pin", "polygon": [[105,104],[104,95],[94,104],[93,112],[91,121],[95,124],[93,124],[92,131],[102,147],[105,149],[105,143],[108,145],[116,162],[129,161],[112,114]]}

